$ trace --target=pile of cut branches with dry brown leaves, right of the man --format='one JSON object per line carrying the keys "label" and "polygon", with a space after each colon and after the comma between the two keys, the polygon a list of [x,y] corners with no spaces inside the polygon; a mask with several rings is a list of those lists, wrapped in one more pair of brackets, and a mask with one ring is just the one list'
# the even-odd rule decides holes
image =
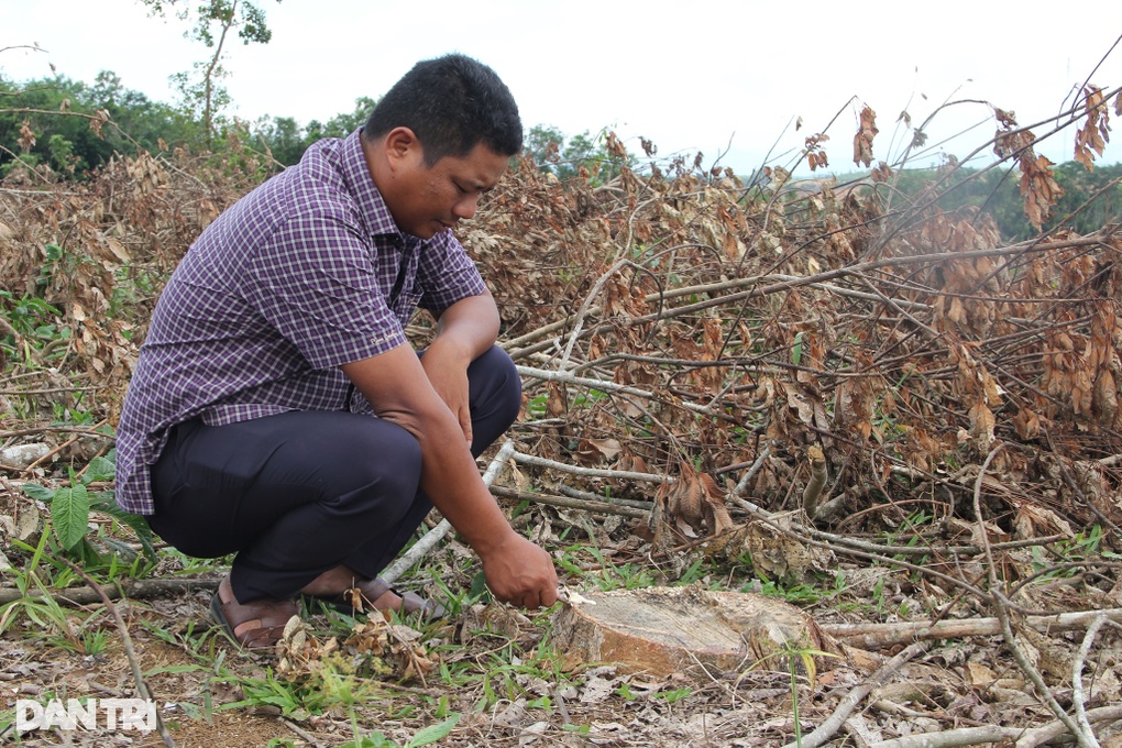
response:
{"label": "pile of cut branches with dry brown leaves, right of the man", "polygon": [[[1000,121],[999,153],[1032,142]],[[884,164],[810,190],[780,169],[594,187],[531,166],[465,236],[527,378],[526,451],[663,475],[613,495],[689,508],[666,519],[695,536],[727,529],[727,492],[833,507],[845,532],[917,509],[949,529],[978,519],[991,452],[994,537],[1122,517],[1116,225],[1006,243],[986,213],[938,206],[948,179],[905,197]],[[1039,222],[1047,177],[1024,184]]]}

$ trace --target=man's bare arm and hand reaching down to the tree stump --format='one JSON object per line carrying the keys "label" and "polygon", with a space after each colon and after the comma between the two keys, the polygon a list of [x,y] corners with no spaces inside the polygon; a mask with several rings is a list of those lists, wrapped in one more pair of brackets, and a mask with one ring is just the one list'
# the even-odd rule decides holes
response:
{"label": "man's bare arm and hand reaching down to the tree stump", "polygon": [[527,608],[557,601],[550,555],[511,527],[463,440],[459,422],[429,382],[416,353],[399,345],[342,367],[379,418],[421,445],[421,488],[479,555],[491,593]]}

